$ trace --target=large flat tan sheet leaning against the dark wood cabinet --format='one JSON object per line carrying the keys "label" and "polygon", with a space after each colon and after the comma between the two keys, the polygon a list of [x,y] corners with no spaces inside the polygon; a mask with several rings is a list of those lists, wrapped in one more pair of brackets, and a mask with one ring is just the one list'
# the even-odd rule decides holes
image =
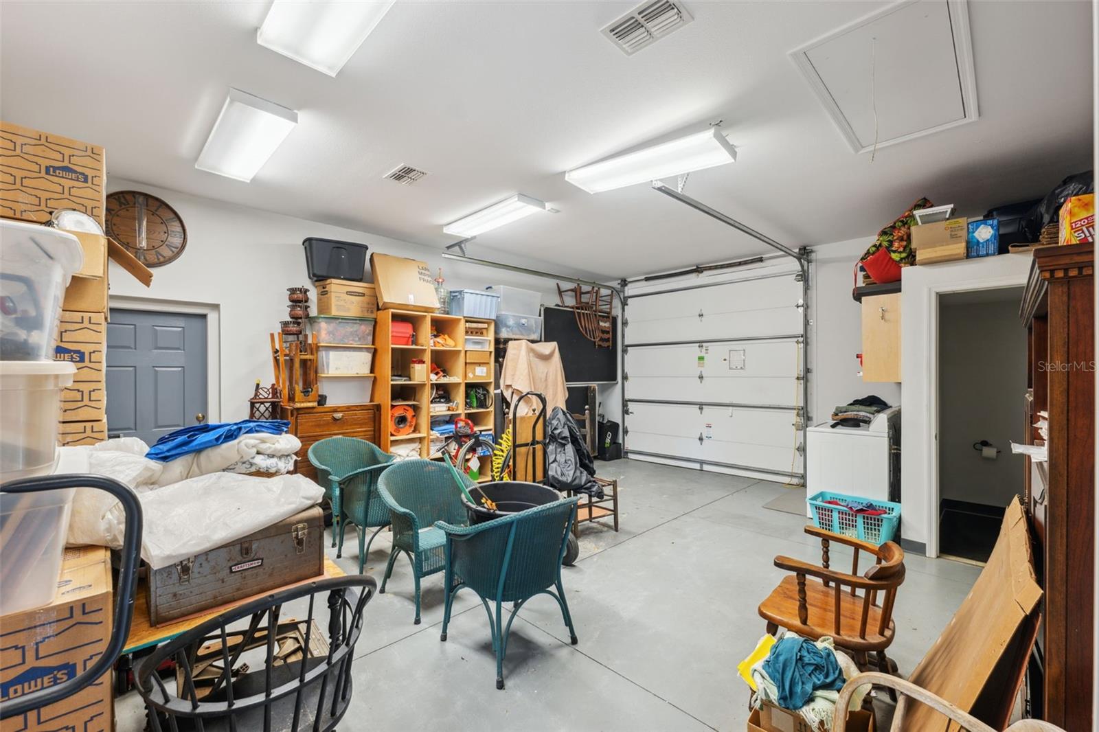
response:
{"label": "large flat tan sheet leaning against the dark wood cabinet", "polygon": [[[909,680],[1002,730],[1034,645],[1041,599],[1026,517],[1015,497],[988,564]],[[959,729],[906,698],[897,719],[902,730]]]}

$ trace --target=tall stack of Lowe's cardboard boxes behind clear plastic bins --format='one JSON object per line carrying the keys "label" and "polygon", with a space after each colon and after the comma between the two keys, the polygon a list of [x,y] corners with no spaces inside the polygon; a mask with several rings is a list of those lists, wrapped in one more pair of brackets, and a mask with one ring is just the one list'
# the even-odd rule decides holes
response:
{"label": "tall stack of Lowe's cardboard boxes behind clear plastic bins", "polygon": [[[75,209],[103,225],[106,153],[102,147],[0,122],[0,215],[44,223],[54,211]],[[153,273],[118,242],[99,234],[70,232],[84,248],[84,268],[73,277],[62,303],[56,361],[76,366],[73,386],[62,395],[63,445],[107,439],[106,351],[108,263],[148,287]]]}

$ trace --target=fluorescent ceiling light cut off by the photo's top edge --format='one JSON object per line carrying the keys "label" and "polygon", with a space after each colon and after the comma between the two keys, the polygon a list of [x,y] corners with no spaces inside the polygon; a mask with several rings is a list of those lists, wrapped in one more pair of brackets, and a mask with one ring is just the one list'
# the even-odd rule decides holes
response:
{"label": "fluorescent ceiling light cut off by the photo's top edge", "polygon": [[335,76],[397,0],[275,0],[256,43]]}

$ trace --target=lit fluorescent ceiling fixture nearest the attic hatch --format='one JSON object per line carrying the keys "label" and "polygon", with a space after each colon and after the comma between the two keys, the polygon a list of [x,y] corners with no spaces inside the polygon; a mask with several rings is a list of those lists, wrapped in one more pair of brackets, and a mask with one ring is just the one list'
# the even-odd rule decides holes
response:
{"label": "lit fluorescent ceiling fixture nearest the attic hatch", "polygon": [[718,127],[569,170],[565,180],[589,193],[681,176],[736,159]]}

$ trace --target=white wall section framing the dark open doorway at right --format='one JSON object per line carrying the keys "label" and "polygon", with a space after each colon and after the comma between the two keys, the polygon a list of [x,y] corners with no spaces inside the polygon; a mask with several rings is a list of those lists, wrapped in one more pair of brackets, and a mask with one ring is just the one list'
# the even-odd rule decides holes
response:
{"label": "white wall section framing the dark open doorway at right", "polygon": [[[939,554],[937,497],[937,337],[939,295],[1021,287],[1032,257],[1004,254],[922,267],[904,267],[901,277],[901,531],[906,540]],[[1022,329],[1022,323],[1019,325]],[[1022,404],[1022,393],[1003,395]]]}

